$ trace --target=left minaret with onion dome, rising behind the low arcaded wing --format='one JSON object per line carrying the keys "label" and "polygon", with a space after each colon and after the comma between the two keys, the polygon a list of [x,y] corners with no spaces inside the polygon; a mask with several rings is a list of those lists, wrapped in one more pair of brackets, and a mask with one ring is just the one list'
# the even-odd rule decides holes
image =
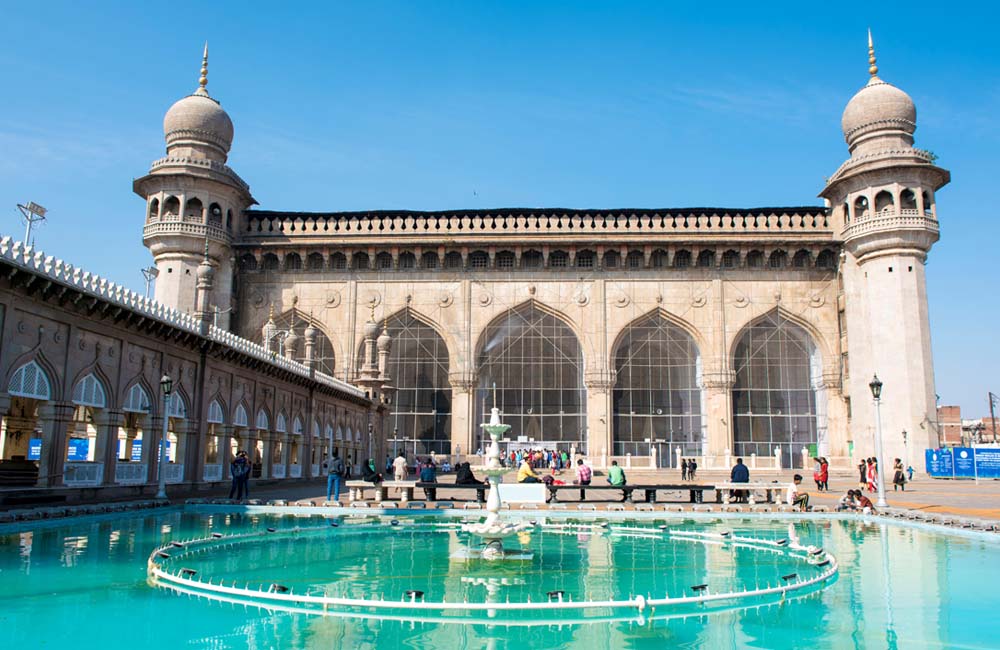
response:
{"label": "left minaret with onion dome, rising behind the low arcaded wing", "polygon": [[256,203],[249,186],[226,165],[233,123],[208,94],[208,44],[195,91],[176,102],[163,118],[167,155],[133,182],[146,200],[143,243],[159,271],[156,300],[188,313],[196,301],[197,268],[202,243],[216,269],[211,311],[219,310],[219,326],[229,329],[233,292],[232,240],[243,211]]}

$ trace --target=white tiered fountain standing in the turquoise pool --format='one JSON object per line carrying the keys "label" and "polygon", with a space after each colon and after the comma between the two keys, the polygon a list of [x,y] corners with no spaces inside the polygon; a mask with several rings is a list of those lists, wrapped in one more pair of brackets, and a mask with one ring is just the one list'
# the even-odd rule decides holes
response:
{"label": "white tiered fountain standing in the turquoise pool", "polygon": [[489,423],[480,426],[486,433],[490,434],[489,449],[486,451],[486,467],[484,474],[490,482],[490,493],[486,497],[486,519],[475,524],[465,524],[462,530],[481,537],[485,541],[485,546],[481,551],[471,551],[471,557],[479,557],[484,560],[530,560],[531,553],[522,550],[508,550],[503,547],[503,540],[511,535],[527,528],[531,524],[527,522],[508,521],[500,516],[500,477],[506,470],[500,464],[500,437],[510,429],[509,424],[500,422],[500,409],[496,407],[496,384],[493,385],[494,405],[490,412]]}

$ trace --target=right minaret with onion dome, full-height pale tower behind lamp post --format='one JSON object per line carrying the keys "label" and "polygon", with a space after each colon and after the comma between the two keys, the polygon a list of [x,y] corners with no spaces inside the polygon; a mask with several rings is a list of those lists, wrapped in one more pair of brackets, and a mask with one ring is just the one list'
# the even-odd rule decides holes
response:
{"label": "right minaret with onion dome, full-height pale tower behind lamp post", "polygon": [[894,458],[919,467],[923,450],[938,445],[924,265],[939,236],[935,192],[950,175],[933,154],[913,147],[916,107],[879,78],[871,32],[868,63],[868,83],[848,102],[841,124],[850,158],[820,196],[843,241],[842,373],[854,456],[875,455],[868,383],[877,373],[889,465],[882,471],[891,476]]}

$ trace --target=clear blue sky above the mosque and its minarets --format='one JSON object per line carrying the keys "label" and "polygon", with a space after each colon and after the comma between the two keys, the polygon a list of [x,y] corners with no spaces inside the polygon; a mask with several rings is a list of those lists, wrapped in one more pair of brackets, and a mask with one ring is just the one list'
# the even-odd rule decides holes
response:
{"label": "clear blue sky above the mosque and its minarets", "polygon": [[263,208],[755,207],[820,203],[871,26],[954,179],[927,270],[938,393],[973,416],[1000,392],[992,3],[89,5],[4,3],[0,232],[34,200],[40,248],[136,289],[131,181],[205,40]]}

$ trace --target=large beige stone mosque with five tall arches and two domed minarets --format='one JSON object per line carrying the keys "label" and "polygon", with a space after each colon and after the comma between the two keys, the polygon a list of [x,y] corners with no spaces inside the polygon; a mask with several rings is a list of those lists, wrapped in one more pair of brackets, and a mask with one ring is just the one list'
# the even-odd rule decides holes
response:
{"label": "large beige stone mosque with five tall arches and two domed minarets", "polygon": [[596,465],[845,467],[874,455],[877,374],[886,457],[916,462],[937,441],[925,263],[950,176],[870,39],[869,66],[813,206],[284,212],[228,166],[206,49],[134,182],[156,300],[391,387],[388,449],[411,455],[476,453],[495,400],[510,448]]}

